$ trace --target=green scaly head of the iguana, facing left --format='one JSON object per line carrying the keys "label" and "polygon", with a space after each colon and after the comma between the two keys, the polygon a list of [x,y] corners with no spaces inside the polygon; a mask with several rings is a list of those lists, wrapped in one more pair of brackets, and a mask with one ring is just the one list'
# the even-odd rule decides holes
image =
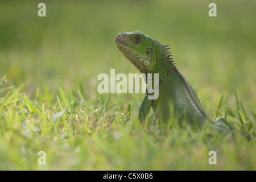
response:
{"label": "green scaly head of the iguana, facing left", "polygon": [[[115,37],[119,51],[142,73],[151,73],[158,57],[168,57],[166,45],[142,34],[142,32],[124,32]],[[157,56],[158,55],[158,56]]]}

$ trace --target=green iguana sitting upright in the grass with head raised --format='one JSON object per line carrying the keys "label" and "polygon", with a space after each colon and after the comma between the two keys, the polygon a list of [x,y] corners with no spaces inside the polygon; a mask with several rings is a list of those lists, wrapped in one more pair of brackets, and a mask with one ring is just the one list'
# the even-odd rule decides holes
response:
{"label": "green iguana sitting upright in the grass with head raised", "polygon": [[168,121],[170,106],[174,108],[174,115],[179,119],[186,118],[189,122],[200,123],[207,118],[207,114],[197,97],[195,90],[176,68],[168,46],[142,34],[142,32],[125,32],[115,37],[119,51],[123,53],[146,75],[159,74],[159,97],[148,100],[146,93],[139,109],[139,118],[144,120],[152,106],[156,118]]}

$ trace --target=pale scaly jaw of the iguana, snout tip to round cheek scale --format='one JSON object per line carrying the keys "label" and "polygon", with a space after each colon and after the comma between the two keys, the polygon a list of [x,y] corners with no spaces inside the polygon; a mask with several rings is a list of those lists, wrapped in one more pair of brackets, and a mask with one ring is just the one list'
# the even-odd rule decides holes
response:
{"label": "pale scaly jaw of the iguana, snout tip to round cheek scale", "polygon": [[131,64],[139,69],[141,73],[147,74],[150,72],[147,68],[150,65],[150,60],[148,60],[147,57],[135,53],[129,48],[129,45],[121,42],[117,37],[115,38],[115,43],[117,44],[118,50],[127,58],[127,60],[130,60]]}

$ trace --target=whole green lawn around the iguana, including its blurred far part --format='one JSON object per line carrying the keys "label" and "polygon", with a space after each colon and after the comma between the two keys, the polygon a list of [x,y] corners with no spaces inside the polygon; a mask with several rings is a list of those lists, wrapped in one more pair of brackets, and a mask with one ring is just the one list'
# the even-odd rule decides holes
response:
{"label": "whole green lawn around the iguana, including its blurred far part", "polygon": [[40,2],[0,2],[1,170],[256,170],[255,137],[140,123],[143,93],[97,92],[100,73],[137,73],[114,38],[138,30],[170,44],[213,121],[251,136],[255,1],[216,1],[216,17],[212,1],[45,1],[46,17]]}

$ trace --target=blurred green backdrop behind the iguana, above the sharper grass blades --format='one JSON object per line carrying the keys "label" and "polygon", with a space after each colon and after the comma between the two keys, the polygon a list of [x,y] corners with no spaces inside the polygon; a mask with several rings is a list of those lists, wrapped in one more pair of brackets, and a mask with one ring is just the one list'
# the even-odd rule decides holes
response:
{"label": "blurred green backdrop behind the iguana, above the sharper grass blades", "polygon": [[[40,2],[46,17],[38,16]],[[37,88],[55,93],[77,82],[85,97],[97,97],[98,74],[138,73],[114,42],[118,33],[138,30],[171,46],[177,68],[208,110],[234,90],[255,105],[256,1],[214,1],[217,17],[208,15],[211,2],[1,1],[0,78],[24,84],[31,97]],[[141,102],[143,94],[135,97]]]}

